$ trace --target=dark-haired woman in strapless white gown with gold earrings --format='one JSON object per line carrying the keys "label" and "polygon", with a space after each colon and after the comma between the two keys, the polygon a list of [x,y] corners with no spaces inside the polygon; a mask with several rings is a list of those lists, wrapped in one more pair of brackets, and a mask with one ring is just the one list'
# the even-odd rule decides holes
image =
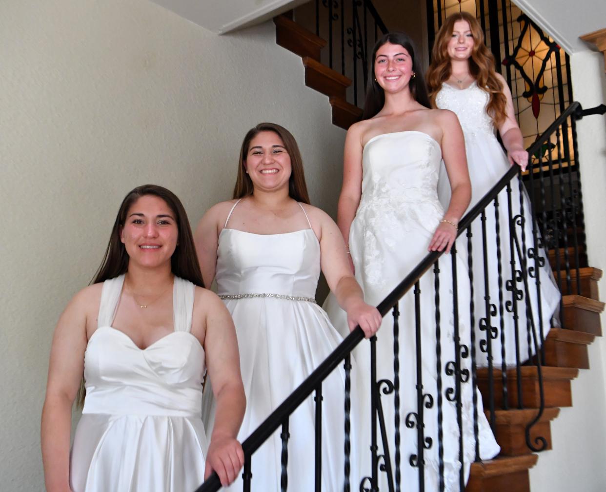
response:
{"label": "dark-haired woman in strapless white gown with gold earrings", "polygon": [[[415,51],[408,36],[390,33],[375,45],[364,119],[350,127],[345,139],[344,171],[339,197],[338,224],[351,251],[356,279],[367,302],[378,304],[427,255],[428,251],[450,251],[457,224],[470,199],[471,190],[461,127],[451,111],[432,110]],[[447,207],[438,200],[437,183],[444,159],[452,198]],[[459,305],[465,304],[465,263],[458,253]],[[460,402],[462,431],[459,431],[456,404],[448,399],[447,388],[454,377],[445,364],[454,360],[453,288],[451,258],[439,261],[441,332],[436,335],[434,274],[424,274],[421,289],[421,365],[422,388],[431,395],[431,406],[424,408],[424,436],[430,437],[424,451],[424,470],[413,465],[418,456],[416,426],[404,425],[411,413],[421,414],[416,394],[415,299],[408,292],[399,301],[399,380],[400,426],[395,424],[393,396],[382,396],[388,445],[395,470],[396,431],[401,433],[401,484],[417,490],[424,480],[425,490],[459,490],[467,480],[474,460],[476,442],[473,430],[477,411],[480,456],[492,457],[499,447],[482,411],[481,399],[474,409],[471,382],[462,384]],[[462,273],[462,274],[461,274]],[[325,303],[330,319],[341,328],[342,313],[329,296]],[[469,347],[470,325],[459,310],[459,340]],[[393,321],[386,316],[377,339],[377,380],[394,379]],[[441,359],[436,347],[441,347]],[[355,352],[360,365],[368,362],[367,350]],[[461,360],[470,370],[469,359]],[[438,370],[439,367],[439,370]],[[441,381],[442,390],[438,381]],[[439,401],[441,401],[439,403]],[[427,402],[424,400],[424,403]],[[429,404],[428,404],[429,405]],[[399,428],[399,430],[398,430]],[[442,439],[440,433],[444,430]],[[459,459],[459,437],[465,466]],[[441,440],[441,442],[439,442]],[[379,443],[381,440],[379,439]],[[440,453],[441,452],[441,453]],[[382,452],[380,451],[379,454]],[[442,470],[441,470],[442,468]],[[379,479],[385,474],[379,474]],[[403,485],[404,486],[404,485]],[[385,484],[379,485],[383,490]]]}

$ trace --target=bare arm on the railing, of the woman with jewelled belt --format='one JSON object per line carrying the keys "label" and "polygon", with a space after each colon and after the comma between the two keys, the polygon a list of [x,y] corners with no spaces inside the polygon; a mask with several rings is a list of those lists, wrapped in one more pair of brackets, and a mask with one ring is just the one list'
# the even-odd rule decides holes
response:
{"label": "bare arm on the railing, of the woman with jewelled belt", "polygon": [[339,306],[347,313],[349,329],[360,325],[366,337],[373,336],[381,326],[381,314],[364,302],[364,295],[351,273],[343,238],[333,220],[319,209],[313,219],[320,225],[320,254],[322,272]]}

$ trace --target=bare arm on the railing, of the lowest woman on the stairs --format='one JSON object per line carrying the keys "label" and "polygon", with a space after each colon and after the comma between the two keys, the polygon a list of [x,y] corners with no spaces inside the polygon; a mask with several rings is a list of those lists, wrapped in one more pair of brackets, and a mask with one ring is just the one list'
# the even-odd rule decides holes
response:
{"label": "bare arm on the railing, of the lowest woman on the stairs", "polygon": [[204,351],[216,400],[215,427],[208,446],[204,478],[216,471],[221,484],[228,485],[244,464],[244,452],[236,436],[244,417],[246,397],[231,316],[221,299],[210,291],[205,291],[202,302],[208,312]]}

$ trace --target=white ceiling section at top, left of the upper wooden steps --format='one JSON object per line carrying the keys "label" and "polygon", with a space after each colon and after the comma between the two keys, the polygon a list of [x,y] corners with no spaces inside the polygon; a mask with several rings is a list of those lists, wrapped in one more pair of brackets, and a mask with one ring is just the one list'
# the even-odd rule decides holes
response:
{"label": "white ceiling section at top, left of the upper wooden steps", "polygon": [[151,0],[213,33],[259,24],[309,0]]}

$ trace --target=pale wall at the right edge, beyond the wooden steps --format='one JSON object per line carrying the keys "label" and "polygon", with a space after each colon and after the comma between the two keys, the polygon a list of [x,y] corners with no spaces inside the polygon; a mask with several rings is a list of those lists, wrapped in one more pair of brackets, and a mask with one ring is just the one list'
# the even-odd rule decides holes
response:
{"label": "pale wall at the right edge, beyond the wooden steps", "polygon": [[[584,108],[606,102],[606,76],[601,53],[584,51],[570,57],[574,101]],[[577,124],[581,187],[585,213],[588,263],[606,271],[606,116],[587,116]],[[606,299],[606,281],[599,285]],[[602,313],[602,330],[606,314]],[[541,453],[530,471],[533,492],[606,490],[606,341],[597,337],[589,347],[591,370],[579,371],[572,382],[573,407],[562,408],[551,422],[553,451]]]}

